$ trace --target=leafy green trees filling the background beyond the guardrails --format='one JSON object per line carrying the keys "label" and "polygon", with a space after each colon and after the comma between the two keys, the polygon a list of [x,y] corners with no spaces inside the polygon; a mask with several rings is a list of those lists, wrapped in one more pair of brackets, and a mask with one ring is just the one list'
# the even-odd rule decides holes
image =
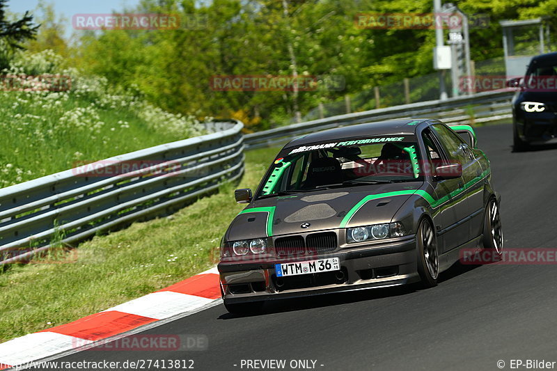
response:
{"label": "leafy green trees filling the background beyond the guardrails", "polygon": [[[459,1],[467,14],[490,17],[486,29],[471,30],[472,58],[483,61],[503,54],[500,20],[554,15],[556,4]],[[434,72],[434,30],[359,29],[354,24],[357,13],[431,13],[430,0],[144,0],[135,11],[175,13],[182,20],[202,22],[176,30],[88,33],[79,47],[81,67],[112,84],[137,86],[168,111],[217,117],[242,111],[250,121],[260,118],[256,129],[281,125],[319,102]],[[209,84],[214,75],[295,73],[340,75],[346,86],[295,93],[216,91]],[[368,96],[372,106],[372,94]],[[382,104],[398,102],[385,99]]]}

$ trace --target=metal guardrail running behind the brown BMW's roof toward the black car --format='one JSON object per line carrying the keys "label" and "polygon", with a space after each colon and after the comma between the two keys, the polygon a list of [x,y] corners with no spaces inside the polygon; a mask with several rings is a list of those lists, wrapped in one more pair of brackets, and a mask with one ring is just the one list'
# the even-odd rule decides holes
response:
{"label": "metal guardrail running behind the brown BMW's roof toward the black car", "polygon": [[444,123],[466,124],[505,120],[512,117],[510,100],[513,94],[514,92],[508,91],[485,92],[448,100],[430,100],[347,113],[247,134],[244,141],[249,149],[281,145],[298,136],[332,127],[395,118],[437,118]]}

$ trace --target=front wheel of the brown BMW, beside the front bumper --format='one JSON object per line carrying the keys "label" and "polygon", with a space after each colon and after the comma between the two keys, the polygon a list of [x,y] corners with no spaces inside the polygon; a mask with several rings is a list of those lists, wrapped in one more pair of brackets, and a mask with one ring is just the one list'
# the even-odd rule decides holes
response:
{"label": "front wheel of the brown BMW, beside the front bumper", "polygon": [[432,224],[427,219],[422,219],[416,234],[418,274],[421,278],[421,287],[437,286],[439,276],[439,253],[437,252],[437,236]]}

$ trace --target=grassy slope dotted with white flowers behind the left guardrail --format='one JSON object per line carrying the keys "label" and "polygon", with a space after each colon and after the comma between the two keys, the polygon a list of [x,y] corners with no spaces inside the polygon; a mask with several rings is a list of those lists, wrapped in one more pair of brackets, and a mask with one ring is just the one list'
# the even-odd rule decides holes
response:
{"label": "grassy slope dotted with white flowers behind the left guardrail", "polygon": [[74,92],[1,92],[0,188],[75,167],[77,161],[106,159],[201,134],[193,128],[161,130],[142,117],[144,111],[102,104],[101,99]]}

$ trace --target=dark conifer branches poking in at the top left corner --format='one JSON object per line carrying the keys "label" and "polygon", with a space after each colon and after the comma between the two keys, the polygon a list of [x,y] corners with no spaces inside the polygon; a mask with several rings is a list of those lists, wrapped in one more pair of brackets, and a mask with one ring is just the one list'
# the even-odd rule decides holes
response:
{"label": "dark conifer branches poking in at the top left corner", "polygon": [[33,16],[26,11],[23,17],[9,22],[6,14],[8,0],[0,0],[0,70],[8,68],[13,52],[24,49],[21,43],[36,37],[39,25],[33,24]]}

